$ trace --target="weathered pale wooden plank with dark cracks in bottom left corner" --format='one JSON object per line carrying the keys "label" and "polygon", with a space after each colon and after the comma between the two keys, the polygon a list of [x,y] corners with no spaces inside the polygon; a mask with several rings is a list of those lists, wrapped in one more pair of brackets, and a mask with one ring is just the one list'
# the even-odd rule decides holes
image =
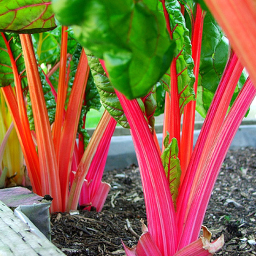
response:
{"label": "weathered pale wooden plank with dark cracks in bottom left corner", "polygon": [[65,255],[46,237],[34,234],[0,201],[0,256],[61,256]]}

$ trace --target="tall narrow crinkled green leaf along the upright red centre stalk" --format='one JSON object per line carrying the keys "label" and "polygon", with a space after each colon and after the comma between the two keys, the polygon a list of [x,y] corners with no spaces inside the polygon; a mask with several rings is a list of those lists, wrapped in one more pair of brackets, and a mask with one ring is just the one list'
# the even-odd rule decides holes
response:
{"label": "tall narrow crinkled green leaf along the upright red centre stalk", "polygon": [[195,82],[193,73],[194,61],[192,59],[191,41],[184,16],[180,12],[180,3],[177,0],[167,0],[165,1],[165,6],[170,17],[172,38],[176,43],[174,60],[176,61],[180,111],[182,113],[184,106],[190,100],[195,99],[193,90]]}

